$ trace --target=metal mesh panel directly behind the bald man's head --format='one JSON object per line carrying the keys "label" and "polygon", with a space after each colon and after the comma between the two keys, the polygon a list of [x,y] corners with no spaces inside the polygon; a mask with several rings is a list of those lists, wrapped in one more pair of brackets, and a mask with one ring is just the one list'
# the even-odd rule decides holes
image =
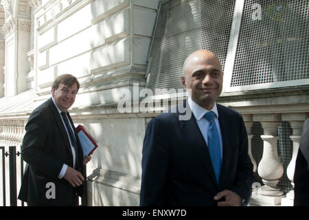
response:
{"label": "metal mesh panel directly behind the bald man's head", "polygon": [[183,61],[195,50],[214,52],[224,67],[234,5],[235,1],[212,0],[161,4],[148,72],[148,88],[155,95],[183,88]]}

